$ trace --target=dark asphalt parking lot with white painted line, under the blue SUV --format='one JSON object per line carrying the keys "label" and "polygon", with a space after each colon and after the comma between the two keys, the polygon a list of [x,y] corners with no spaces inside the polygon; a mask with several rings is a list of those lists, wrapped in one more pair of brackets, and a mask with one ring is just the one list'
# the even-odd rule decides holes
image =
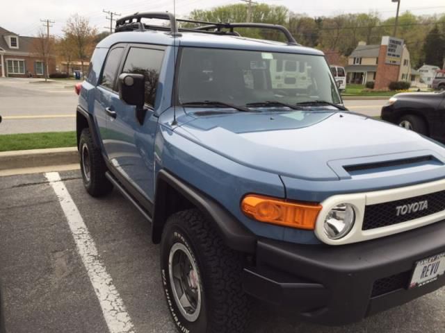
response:
{"label": "dark asphalt parking lot with white painted line, under the blue SUV", "polygon": [[[143,217],[117,191],[88,196],[79,171],[52,177],[0,178],[8,333],[176,332],[161,290],[159,246]],[[445,332],[444,296],[442,289],[345,327],[302,323],[255,305],[249,333]]]}

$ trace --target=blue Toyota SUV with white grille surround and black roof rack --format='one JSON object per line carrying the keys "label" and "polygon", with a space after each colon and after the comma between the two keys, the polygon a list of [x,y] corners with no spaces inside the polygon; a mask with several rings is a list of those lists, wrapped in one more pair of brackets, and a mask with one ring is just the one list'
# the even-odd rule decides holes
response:
{"label": "blue Toyota SUV with white grille surround and black roof rack", "polygon": [[444,147],[348,112],[321,51],[169,13],[115,32],[78,89],[83,183],[151,223],[179,332],[243,332],[254,298],[353,323],[445,284]]}

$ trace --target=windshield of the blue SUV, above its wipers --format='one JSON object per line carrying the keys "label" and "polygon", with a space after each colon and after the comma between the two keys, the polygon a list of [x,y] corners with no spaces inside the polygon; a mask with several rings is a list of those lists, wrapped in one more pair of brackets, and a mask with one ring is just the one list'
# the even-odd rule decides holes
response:
{"label": "windshield of the blue SUV, above its wipers", "polygon": [[184,47],[179,103],[341,103],[323,56]]}

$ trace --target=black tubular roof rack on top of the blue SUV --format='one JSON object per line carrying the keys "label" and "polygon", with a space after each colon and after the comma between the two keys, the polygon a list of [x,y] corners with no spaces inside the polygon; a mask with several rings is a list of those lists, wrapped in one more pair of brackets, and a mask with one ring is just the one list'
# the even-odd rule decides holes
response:
{"label": "black tubular roof rack on top of the blue SUV", "polygon": [[[141,19],[165,19],[170,21],[170,26],[156,26],[152,24],[144,24]],[[204,26],[197,26],[196,28],[178,28],[178,22],[205,24]],[[286,37],[288,44],[298,45],[292,34],[284,26],[277,24],[266,23],[215,23],[195,21],[192,19],[176,19],[175,15],[170,12],[136,12],[133,15],[122,17],[116,21],[115,32],[121,31],[167,31],[172,35],[181,35],[180,32],[195,32],[195,33],[211,33],[213,35],[236,35],[240,34],[234,31],[234,28],[264,28],[275,31],[280,31]],[[228,29],[225,31],[223,29]]]}

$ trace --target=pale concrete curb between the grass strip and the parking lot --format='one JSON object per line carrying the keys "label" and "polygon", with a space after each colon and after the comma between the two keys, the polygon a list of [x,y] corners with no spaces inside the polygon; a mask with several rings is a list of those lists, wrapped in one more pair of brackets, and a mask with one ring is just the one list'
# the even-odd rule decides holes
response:
{"label": "pale concrete curb between the grass strip and the parking lot", "polygon": [[0,153],[0,170],[50,167],[79,163],[77,147],[5,151]]}

